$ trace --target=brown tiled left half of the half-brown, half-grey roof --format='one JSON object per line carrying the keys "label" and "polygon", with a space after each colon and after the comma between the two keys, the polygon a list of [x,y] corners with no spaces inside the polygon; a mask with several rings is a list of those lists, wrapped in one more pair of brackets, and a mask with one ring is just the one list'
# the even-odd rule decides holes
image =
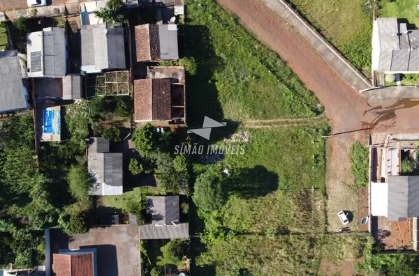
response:
{"label": "brown tiled left half of the half-brown, half-grey roof", "polygon": [[144,24],[135,26],[135,50],[137,61],[158,61],[160,59],[159,26]]}

